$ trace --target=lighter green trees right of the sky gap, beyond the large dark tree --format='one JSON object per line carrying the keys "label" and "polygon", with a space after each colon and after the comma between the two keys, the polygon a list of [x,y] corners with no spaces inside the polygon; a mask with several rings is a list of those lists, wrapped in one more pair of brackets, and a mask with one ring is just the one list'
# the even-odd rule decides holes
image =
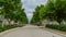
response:
{"label": "lighter green trees right of the sky gap, beyond the large dark tree", "polygon": [[33,24],[33,23],[42,22],[44,20],[43,18],[44,13],[45,13],[44,5],[36,7],[35,12],[33,13],[34,15],[31,23]]}

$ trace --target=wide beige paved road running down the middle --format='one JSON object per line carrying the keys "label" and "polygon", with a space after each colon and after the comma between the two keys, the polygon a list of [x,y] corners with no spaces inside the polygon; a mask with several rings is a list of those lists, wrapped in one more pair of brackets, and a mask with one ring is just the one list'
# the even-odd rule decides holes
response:
{"label": "wide beige paved road running down the middle", "polygon": [[28,25],[10,32],[2,37],[62,37],[53,33],[41,29],[38,26]]}

